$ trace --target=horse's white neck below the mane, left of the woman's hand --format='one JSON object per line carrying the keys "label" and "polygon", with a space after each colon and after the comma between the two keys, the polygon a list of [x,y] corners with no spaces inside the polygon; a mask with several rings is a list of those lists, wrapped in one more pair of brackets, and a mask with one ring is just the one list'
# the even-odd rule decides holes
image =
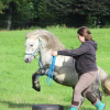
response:
{"label": "horse's white neck below the mane, left of the woman's hand", "polygon": [[42,48],[40,52],[40,61],[43,66],[50,65],[52,50]]}

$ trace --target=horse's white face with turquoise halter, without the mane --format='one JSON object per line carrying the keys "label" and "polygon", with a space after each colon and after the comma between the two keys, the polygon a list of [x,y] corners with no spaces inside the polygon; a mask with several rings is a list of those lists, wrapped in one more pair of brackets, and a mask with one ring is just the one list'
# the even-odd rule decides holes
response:
{"label": "horse's white face with turquoise halter, without the mane", "polygon": [[38,35],[32,35],[31,37],[26,36],[25,42],[25,63],[31,63],[35,56],[37,56],[37,52],[42,46],[42,41],[38,38]]}

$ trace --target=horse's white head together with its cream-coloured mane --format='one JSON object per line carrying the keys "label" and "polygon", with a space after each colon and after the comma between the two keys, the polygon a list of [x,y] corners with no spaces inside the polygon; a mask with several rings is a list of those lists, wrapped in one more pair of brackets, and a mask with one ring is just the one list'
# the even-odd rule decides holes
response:
{"label": "horse's white head together with its cream-coloured mane", "polygon": [[65,50],[65,46],[59,43],[57,37],[45,30],[28,33],[25,38],[25,63],[31,63],[41,48],[46,48],[45,51]]}

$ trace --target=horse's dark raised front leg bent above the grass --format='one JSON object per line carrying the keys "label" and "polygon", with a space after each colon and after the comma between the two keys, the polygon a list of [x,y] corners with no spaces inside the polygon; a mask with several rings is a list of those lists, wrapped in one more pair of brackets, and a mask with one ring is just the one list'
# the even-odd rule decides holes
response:
{"label": "horse's dark raised front leg bent above the grass", "polygon": [[40,75],[43,75],[43,70],[41,68],[38,68],[38,70],[32,75],[32,87],[36,91],[41,91],[41,86],[37,77]]}

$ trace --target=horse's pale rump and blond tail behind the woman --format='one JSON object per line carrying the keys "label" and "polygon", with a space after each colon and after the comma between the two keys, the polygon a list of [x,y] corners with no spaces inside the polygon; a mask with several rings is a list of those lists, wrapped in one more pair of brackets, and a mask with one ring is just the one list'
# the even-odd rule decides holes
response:
{"label": "horse's pale rump and blond tail behind the woman", "polygon": [[110,96],[110,75],[102,68],[98,67],[102,91],[106,96]]}

